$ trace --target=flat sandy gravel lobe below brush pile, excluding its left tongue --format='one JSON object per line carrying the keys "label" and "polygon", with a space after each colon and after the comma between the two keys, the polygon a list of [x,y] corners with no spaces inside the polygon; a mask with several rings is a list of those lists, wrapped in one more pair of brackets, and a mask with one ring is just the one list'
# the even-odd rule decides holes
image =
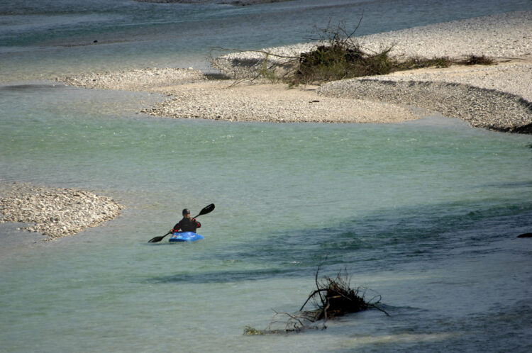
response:
{"label": "flat sandy gravel lobe below brush pile, excluding its left tongue", "polygon": [[318,96],[316,87],[208,82],[160,89],[171,99],[143,110],[153,116],[270,123],[397,123],[419,118],[391,103]]}

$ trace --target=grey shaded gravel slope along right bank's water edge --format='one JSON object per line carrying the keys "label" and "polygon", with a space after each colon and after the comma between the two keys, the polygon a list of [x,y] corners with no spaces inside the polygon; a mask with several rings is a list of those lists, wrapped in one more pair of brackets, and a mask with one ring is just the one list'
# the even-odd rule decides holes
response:
{"label": "grey shaded gravel slope along right bank's water edge", "polygon": [[444,116],[461,118],[478,128],[532,133],[532,104],[520,96],[493,89],[447,82],[353,79],[326,84],[318,93],[412,104]]}

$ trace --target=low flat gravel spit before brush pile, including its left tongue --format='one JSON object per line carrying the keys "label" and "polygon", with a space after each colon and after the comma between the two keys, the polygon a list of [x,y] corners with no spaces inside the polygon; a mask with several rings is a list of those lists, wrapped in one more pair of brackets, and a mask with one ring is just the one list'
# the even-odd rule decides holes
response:
{"label": "low flat gravel spit before brush pile, including its left tongue", "polygon": [[378,101],[320,97],[316,86],[207,79],[194,69],[128,69],[58,77],[90,89],[151,91],[170,96],[142,113],[170,118],[271,123],[398,123],[419,118],[409,108]]}

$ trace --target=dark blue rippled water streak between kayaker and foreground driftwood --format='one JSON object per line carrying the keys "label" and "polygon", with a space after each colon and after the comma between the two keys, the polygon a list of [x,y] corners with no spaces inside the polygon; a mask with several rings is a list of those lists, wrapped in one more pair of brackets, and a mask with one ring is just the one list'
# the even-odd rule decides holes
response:
{"label": "dark blue rippled water streak between kayaker and foreground driftwood", "polygon": [[[218,243],[214,253],[200,252],[194,259],[213,267],[198,271],[177,269],[175,274],[155,276],[146,283],[311,278],[318,266],[348,266],[355,275],[410,263],[430,267],[431,263],[456,254],[499,252],[499,244],[513,241],[523,229],[532,228],[531,215],[532,203],[516,205],[511,201],[504,206],[486,201],[380,210],[335,227],[273,231],[250,235],[249,241]],[[189,248],[197,249],[192,245]]]}

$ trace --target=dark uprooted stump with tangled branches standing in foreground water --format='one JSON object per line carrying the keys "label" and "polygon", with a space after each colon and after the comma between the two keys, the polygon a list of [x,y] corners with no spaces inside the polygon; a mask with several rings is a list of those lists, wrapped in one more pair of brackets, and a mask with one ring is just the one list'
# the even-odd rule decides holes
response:
{"label": "dark uprooted stump with tangled branches standing in foreground water", "polygon": [[[346,269],[338,272],[335,278],[324,276],[318,279],[316,271],[316,290],[314,290],[297,313],[278,313],[266,330],[257,330],[245,327],[245,335],[265,335],[272,333],[299,332],[304,329],[325,329],[326,321],[348,313],[358,313],[362,310],[377,309],[389,316],[386,310],[379,307],[382,296],[373,296],[370,300],[365,298],[367,291],[364,287],[350,288],[350,276]],[[307,304],[314,306],[305,310]],[[321,323],[316,325],[316,323]],[[284,329],[274,329],[275,325],[284,325]]]}

